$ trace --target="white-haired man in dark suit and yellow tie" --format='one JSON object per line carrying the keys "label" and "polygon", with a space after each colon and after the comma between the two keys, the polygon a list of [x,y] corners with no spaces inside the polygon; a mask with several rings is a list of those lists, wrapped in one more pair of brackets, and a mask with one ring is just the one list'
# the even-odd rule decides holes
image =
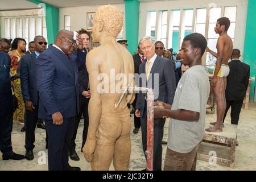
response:
{"label": "white-haired man in dark suit and yellow tie", "polygon": [[[147,85],[154,90],[154,100],[172,104],[175,94],[174,65],[170,60],[157,56],[155,45],[151,37],[144,37],[139,42],[139,47],[146,56],[147,61],[139,66],[141,80],[139,86]],[[146,75],[145,75],[146,74]],[[147,104],[146,93],[139,93],[136,102],[135,114],[141,117],[143,151],[147,149]],[[162,166],[162,139],[164,130],[164,118],[154,119],[154,156],[153,169],[161,170]]]}

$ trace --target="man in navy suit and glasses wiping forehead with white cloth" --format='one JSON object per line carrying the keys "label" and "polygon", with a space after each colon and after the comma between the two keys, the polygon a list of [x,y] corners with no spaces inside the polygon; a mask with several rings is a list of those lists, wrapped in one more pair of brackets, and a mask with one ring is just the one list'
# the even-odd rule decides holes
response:
{"label": "man in navy suit and glasses wiping forehead with white cloth", "polygon": [[49,170],[79,171],[68,163],[75,116],[79,111],[78,67],[85,65],[81,51],[72,55],[76,42],[82,49],[81,36],[61,30],[52,46],[40,54],[36,63],[36,85],[39,91],[39,118],[48,132]]}

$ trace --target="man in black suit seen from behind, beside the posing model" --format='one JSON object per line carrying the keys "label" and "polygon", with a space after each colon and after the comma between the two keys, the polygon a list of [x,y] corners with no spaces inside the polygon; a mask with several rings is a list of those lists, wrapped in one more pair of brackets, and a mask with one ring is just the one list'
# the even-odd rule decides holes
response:
{"label": "man in black suit seen from behind, beside the posing model", "polygon": [[[245,97],[247,86],[250,78],[250,66],[242,63],[240,60],[240,50],[233,49],[231,60],[229,64],[229,75],[226,77],[226,113],[231,106],[231,123],[237,125],[239,121],[240,111],[243,105],[243,98]],[[224,122],[223,119],[223,122]]]}

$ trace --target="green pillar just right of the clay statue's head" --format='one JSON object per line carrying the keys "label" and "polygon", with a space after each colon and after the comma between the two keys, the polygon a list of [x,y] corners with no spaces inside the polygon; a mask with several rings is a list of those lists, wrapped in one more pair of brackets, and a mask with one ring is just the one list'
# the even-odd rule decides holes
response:
{"label": "green pillar just right of the clay statue's head", "polygon": [[133,55],[138,47],[139,38],[139,1],[125,0],[125,30],[128,40],[127,49]]}

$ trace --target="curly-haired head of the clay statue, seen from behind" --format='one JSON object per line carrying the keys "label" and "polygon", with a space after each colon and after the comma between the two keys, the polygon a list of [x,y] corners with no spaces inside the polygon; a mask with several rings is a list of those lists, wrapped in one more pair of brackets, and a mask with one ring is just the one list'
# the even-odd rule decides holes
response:
{"label": "curly-haired head of the clay statue, seen from behind", "polygon": [[123,15],[115,6],[100,6],[96,11],[92,23],[93,42],[100,42],[101,36],[116,38],[123,26]]}

